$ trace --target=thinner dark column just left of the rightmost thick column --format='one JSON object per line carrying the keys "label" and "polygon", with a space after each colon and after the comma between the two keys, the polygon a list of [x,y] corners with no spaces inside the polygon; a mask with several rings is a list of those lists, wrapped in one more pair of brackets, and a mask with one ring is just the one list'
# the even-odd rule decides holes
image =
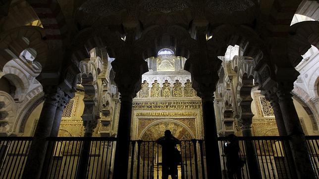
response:
{"label": "thinner dark column just left of the rightmost thick column", "polygon": [[[276,95],[275,92],[269,91],[268,93],[266,93],[265,97],[267,100],[270,101],[270,104],[272,106],[279,135],[280,136],[287,136],[287,131],[286,131],[285,124],[284,124],[284,121],[282,118],[281,109],[280,109],[280,106],[278,103],[278,96]],[[297,176],[297,173],[295,170],[295,163],[293,160],[293,155],[291,153],[291,147],[290,147],[289,141],[284,140],[283,145],[284,145],[284,149],[285,149],[283,151],[285,154],[285,161],[289,164],[288,167],[290,170],[290,178],[297,179],[298,176]]]}

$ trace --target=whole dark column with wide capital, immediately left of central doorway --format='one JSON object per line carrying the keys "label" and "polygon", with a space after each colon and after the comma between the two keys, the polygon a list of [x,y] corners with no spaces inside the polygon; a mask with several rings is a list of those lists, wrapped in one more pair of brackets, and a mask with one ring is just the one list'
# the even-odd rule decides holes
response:
{"label": "whole dark column with wide capital, immediately left of central doorway", "polygon": [[145,60],[132,59],[131,56],[115,59],[111,64],[116,73],[114,81],[121,100],[113,179],[126,179],[131,139],[132,99],[141,89],[142,74],[148,71],[148,66]]}

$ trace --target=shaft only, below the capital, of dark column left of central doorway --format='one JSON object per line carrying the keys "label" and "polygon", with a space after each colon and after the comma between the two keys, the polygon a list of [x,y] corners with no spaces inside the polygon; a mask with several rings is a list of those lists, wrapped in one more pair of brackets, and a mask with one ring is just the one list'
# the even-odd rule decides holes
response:
{"label": "shaft only, below the capital, of dark column left of central doorway", "polygon": [[132,97],[121,94],[113,179],[126,179],[131,139]]}

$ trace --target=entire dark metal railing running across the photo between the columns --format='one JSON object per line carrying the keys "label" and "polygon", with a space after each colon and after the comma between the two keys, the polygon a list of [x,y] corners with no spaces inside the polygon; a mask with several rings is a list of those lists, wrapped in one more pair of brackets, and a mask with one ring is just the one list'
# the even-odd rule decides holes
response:
{"label": "entire dark metal railing running across the photo between the columns", "polygon": [[[241,177],[249,179],[252,164],[263,179],[289,179],[293,175],[287,136],[238,137],[240,158],[245,161]],[[306,136],[313,169],[319,178],[319,136]],[[115,153],[114,137],[49,137],[49,162],[44,176],[48,179],[111,179]],[[224,152],[226,137],[218,137],[223,178],[227,178],[227,157]],[[32,137],[0,137],[0,179],[20,179],[28,156]],[[180,179],[207,178],[203,140],[182,140],[177,145],[181,152],[178,165]],[[131,141],[128,179],[161,178],[161,146],[156,141]],[[250,162],[249,162],[250,161]],[[253,162],[252,162],[253,161]],[[255,168],[256,169],[256,168]]]}

